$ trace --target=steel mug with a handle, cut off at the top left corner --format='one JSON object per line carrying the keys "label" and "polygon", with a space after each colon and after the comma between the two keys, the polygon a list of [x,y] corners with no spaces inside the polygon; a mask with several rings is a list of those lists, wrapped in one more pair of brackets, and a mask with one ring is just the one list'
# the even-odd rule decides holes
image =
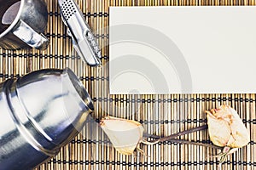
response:
{"label": "steel mug with a handle, cut off at the top left corner", "polygon": [[0,47],[47,48],[47,20],[44,0],[0,0]]}

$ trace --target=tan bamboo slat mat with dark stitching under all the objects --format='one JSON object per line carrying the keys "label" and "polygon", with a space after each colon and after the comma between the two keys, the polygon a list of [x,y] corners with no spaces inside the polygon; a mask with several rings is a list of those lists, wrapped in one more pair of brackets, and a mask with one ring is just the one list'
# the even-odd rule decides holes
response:
{"label": "tan bamboo slat mat with dark stitching under all the objects", "polygon": [[[66,27],[61,21],[56,0],[47,0],[49,25],[46,35],[50,45],[46,51],[0,49],[0,81],[20,77],[44,68],[70,67],[84,83],[94,101],[96,122],[112,115],[143,123],[145,131],[170,135],[206,123],[204,111],[228,104],[238,111],[250,130],[251,141],[224,161],[223,169],[256,169],[256,95],[255,94],[172,94],[172,95],[109,95],[108,94],[108,7],[109,6],[176,6],[176,5],[255,5],[252,0],[79,0],[96,39],[102,48],[102,69],[84,65],[74,53]],[[254,21],[254,20],[253,20]],[[125,33],[125,32],[124,32]],[[50,88],[50,87],[47,87]],[[122,156],[113,149],[100,127],[90,119],[84,130],[70,144],[61,148],[55,158],[37,170],[215,170],[218,161],[209,156],[219,150],[189,144],[165,142],[144,146],[140,153]],[[92,128],[91,128],[92,127]],[[191,133],[181,139],[209,142],[206,131]]]}

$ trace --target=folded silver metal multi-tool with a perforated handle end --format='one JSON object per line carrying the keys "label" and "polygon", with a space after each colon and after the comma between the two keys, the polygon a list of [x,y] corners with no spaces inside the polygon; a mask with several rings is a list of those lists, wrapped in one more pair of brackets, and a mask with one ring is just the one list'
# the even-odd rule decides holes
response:
{"label": "folded silver metal multi-tool with a perforated handle end", "polygon": [[77,3],[73,0],[58,0],[58,4],[67,34],[72,37],[73,47],[80,57],[88,65],[101,65],[101,50]]}

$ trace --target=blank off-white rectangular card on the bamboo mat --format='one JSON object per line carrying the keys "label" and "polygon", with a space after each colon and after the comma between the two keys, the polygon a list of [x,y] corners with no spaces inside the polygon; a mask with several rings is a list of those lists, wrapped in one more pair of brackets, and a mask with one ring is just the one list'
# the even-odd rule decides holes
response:
{"label": "blank off-white rectangular card on the bamboo mat", "polygon": [[256,93],[256,7],[111,7],[110,94]]}

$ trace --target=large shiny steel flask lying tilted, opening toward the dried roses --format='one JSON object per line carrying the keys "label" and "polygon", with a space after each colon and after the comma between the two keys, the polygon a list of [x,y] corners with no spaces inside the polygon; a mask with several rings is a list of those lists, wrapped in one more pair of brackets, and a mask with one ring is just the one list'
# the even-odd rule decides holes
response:
{"label": "large shiny steel flask lying tilted, opening toward the dried roses", "polygon": [[0,83],[0,169],[27,170],[55,156],[92,111],[90,95],[68,68]]}

